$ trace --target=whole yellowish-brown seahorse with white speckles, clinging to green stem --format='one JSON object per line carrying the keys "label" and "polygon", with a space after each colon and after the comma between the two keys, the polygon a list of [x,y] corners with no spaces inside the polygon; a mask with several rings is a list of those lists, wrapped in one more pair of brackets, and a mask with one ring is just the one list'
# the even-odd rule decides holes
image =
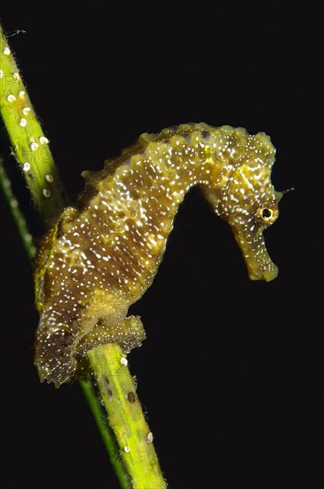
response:
{"label": "whole yellowish-brown seahorse with white speckles, clinging to green stem", "polygon": [[59,387],[86,378],[90,349],[117,342],[129,352],[141,344],[143,325],[128,309],[152,284],[178,206],[196,185],[233,229],[249,277],[273,280],[278,269],[263,231],[282,196],[271,182],[274,156],[265,132],[181,124],[144,133],[103,170],[83,172],[83,193],[36,260],[40,380]]}

